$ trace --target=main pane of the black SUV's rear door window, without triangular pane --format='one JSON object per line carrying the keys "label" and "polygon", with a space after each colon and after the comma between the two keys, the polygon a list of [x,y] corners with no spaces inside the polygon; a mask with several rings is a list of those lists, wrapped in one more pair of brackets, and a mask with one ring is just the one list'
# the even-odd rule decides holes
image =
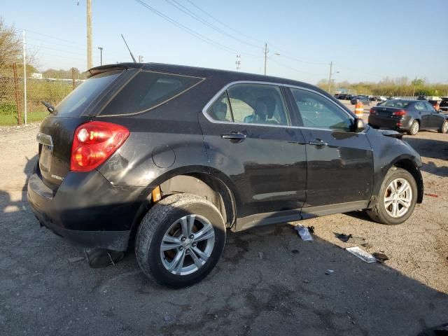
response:
{"label": "main pane of the black SUV's rear door window, without triangular pane", "polygon": [[280,87],[237,84],[228,95],[235,123],[290,125]]}

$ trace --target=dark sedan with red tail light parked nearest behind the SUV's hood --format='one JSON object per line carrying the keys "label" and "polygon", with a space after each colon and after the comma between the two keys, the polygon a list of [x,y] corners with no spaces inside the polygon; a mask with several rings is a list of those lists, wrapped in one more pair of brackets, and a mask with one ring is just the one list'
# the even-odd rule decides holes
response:
{"label": "dark sedan with red tail light parked nearest behind the SUV's hood", "polygon": [[370,109],[369,125],[415,135],[419,130],[448,132],[448,116],[435,111],[424,100],[394,99],[379,103]]}

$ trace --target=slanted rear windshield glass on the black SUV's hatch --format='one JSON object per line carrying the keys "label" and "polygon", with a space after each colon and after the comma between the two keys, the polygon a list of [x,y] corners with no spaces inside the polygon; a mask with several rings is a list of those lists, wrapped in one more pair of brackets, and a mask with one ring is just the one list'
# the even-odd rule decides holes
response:
{"label": "slanted rear windshield glass on the black SUV's hatch", "polygon": [[92,76],[62,99],[55,107],[57,116],[78,117],[122,71],[107,71]]}

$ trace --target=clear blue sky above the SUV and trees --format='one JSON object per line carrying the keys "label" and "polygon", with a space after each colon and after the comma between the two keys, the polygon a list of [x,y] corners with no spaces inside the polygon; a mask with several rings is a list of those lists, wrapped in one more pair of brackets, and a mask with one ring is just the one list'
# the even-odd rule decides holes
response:
{"label": "clear blue sky above the SUV and trees", "polygon": [[[328,78],[332,61],[337,81],[417,76],[448,83],[447,0],[176,0],[225,34],[172,6],[169,2],[179,6],[174,0],[143,1],[231,50],[191,36],[137,1],[92,0],[94,65],[99,65],[98,46],[104,48],[104,64],[130,61],[123,34],[144,62],[235,70],[241,53],[241,71],[262,73],[267,41],[267,73],[274,76],[316,83]],[[41,70],[85,71],[85,13],[85,0],[1,0],[0,6],[7,25],[28,30]]]}

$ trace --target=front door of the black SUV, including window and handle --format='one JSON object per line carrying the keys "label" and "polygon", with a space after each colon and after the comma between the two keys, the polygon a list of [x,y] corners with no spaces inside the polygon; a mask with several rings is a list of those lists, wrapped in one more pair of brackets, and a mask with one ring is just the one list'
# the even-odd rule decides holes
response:
{"label": "front door of the black SUV, including window and handle", "polygon": [[352,132],[354,118],[323,94],[290,88],[307,148],[307,200],[302,216],[363,209],[370,201],[373,153],[365,132]]}

